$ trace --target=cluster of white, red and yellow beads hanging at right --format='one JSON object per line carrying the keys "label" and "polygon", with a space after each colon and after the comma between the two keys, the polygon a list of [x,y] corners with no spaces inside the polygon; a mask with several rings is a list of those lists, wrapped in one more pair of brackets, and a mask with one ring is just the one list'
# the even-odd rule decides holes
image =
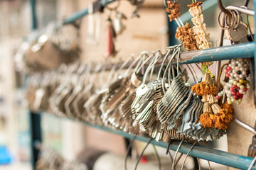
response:
{"label": "cluster of white, red and yellow beads hanging at right", "polygon": [[249,77],[250,69],[247,60],[238,59],[231,60],[228,67],[224,69],[225,82],[223,91],[218,93],[217,98],[220,98],[224,94],[227,96],[228,104],[237,102],[240,104],[242,102],[242,97],[246,94],[246,91],[250,89],[250,81],[246,78]]}

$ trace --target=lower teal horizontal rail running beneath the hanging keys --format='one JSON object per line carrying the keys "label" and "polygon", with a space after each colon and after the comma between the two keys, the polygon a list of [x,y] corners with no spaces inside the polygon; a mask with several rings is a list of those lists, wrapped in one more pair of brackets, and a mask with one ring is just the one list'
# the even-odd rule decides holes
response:
{"label": "lower teal horizontal rail running beneath the hanging keys", "polygon": [[[80,123],[82,123],[84,125],[88,125],[92,128],[97,128],[99,130],[105,130],[106,132],[111,132],[111,133],[114,133],[116,135],[121,135],[121,136],[127,137],[129,139],[134,138],[134,135],[131,135],[127,132],[123,132],[121,130],[113,130],[113,129],[106,128],[106,127],[101,126],[101,125],[93,125],[91,123],[85,123],[85,122],[81,122],[81,121],[74,120],[74,119],[71,119],[71,118],[68,118],[68,119],[76,121],[76,122],[80,122]],[[142,142],[149,142],[150,139],[151,139],[150,137],[145,137],[145,136],[137,136],[136,137],[136,140],[139,140],[139,141],[142,141]],[[159,146],[159,147],[164,147],[164,148],[168,147],[168,143],[166,143],[166,142],[157,142],[156,140],[152,140],[151,144]],[[174,141],[174,142],[171,143],[169,148],[171,150],[176,151],[179,144],[180,144],[179,141]],[[178,150],[178,152],[181,152],[183,154],[187,154],[188,150],[191,149],[191,147],[192,147],[191,144],[183,142],[183,144],[181,145],[181,148]],[[239,155],[239,154],[232,154],[232,153],[220,151],[218,149],[211,149],[211,148],[208,148],[208,147],[202,147],[202,146],[198,146],[198,145],[193,147],[193,149],[191,150],[189,155],[191,157],[198,157],[200,159],[205,159],[205,160],[208,160],[210,162],[223,164],[223,165],[230,166],[230,167],[233,167],[233,168],[236,168],[236,169],[248,169],[248,167],[250,166],[250,164],[252,163],[252,160],[253,160],[252,157],[245,157],[245,156],[242,156],[242,155]],[[256,166],[253,166],[252,169],[256,169]]]}

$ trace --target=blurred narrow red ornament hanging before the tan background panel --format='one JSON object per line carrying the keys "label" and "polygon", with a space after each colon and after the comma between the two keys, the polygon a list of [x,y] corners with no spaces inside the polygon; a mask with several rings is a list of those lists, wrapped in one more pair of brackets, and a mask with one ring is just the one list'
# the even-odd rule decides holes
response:
{"label": "blurred narrow red ornament hanging before the tan background panel", "polygon": [[112,20],[110,16],[108,16],[106,21],[106,33],[107,33],[107,49],[106,49],[106,57],[114,57],[117,54],[117,51],[114,49],[114,38],[116,37],[114,33],[114,28],[112,25]]}

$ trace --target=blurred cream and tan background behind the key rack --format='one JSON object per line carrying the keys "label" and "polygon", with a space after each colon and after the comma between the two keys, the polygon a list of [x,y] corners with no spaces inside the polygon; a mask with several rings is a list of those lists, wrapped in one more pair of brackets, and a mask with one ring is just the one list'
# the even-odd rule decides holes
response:
{"label": "blurred cream and tan background behind the key rack", "polygon": [[[1,164],[0,169],[30,170],[31,167],[31,130],[30,117],[27,101],[24,97],[26,86],[24,85],[24,74],[18,72],[15,65],[15,54],[26,36],[31,33],[31,1],[28,0],[0,0],[0,157],[2,153],[9,155],[10,159]],[[187,4],[191,1],[178,1],[181,4],[181,13],[188,10]],[[62,21],[76,11],[88,6],[88,0],[36,0],[36,17],[38,28],[45,28],[51,21]],[[132,53],[139,55],[144,50],[152,51],[165,49],[169,45],[169,37],[175,34],[175,30],[168,29],[168,18],[164,12],[162,1],[146,0],[139,11],[139,18],[131,18],[135,6],[127,1],[121,1],[118,10],[125,13],[127,20],[124,21],[126,30],[119,35],[115,42],[119,51],[114,60],[125,60]],[[240,6],[240,1],[223,1],[225,5]],[[113,3],[110,6],[115,6]],[[252,2],[249,7],[252,8]],[[215,47],[218,40],[219,26],[217,5],[204,11],[205,23],[210,33],[210,40]],[[100,15],[100,42],[97,45],[86,43],[87,17],[81,19],[80,25],[80,47],[83,61],[102,61],[105,55],[105,19],[107,12]],[[190,21],[189,21],[190,22]],[[191,22],[190,22],[191,23]],[[250,18],[253,27],[253,18]],[[177,42],[172,41],[176,44]],[[213,66],[214,70],[214,66]],[[213,71],[212,70],[212,71]],[[198,73],[199,74],[199,73]],[[249,93],[248,93],[249,94]],[[252,93],[253,94],[253,93]],[[43,145],[55,149],[67,160],[77,160],[79,155],[86,152],[85,148],[94,148],[100,151],[109,152],[113,155],[107,160],[118,160],[122,162],[126,152],[124,138],[108,132],[86,127],[81,123],[72,120],[56,118],[53,115],[41,114],[41,128],[43,132]],[[245,120],[246,121],[246,120]],[[250,124],[253,125],[252,120]],[[247,132],[240,132],[239,134]],[[230,135],[232,139],[233,135]],[[230,140],[228,145],[227,136],[221,137],[217,142],[209,144],[224,151],[247,154],[247,147],[251,142],[251,134],[245,135],[243,144],[237,145]],[[239,137],[238,137],[239,138]],[[239,140],[237,138],[237,140]],[[141,151],[145,144],[136,142],[137,149]],[[237,146],[235,148],[235,145]],[[229,146],[229,147],[228,147]],[[241,147],[241,148],[240,148]],[[158,148],[163,162],[168,164],[169,157],[165,155],[165,149]],[[153,148],[146,150],[149,154]],[[140,153],[140,152],[139,152]],[[116,157],[121,155],[122,157]],[[118,159],[119,158],[119,159]],[[114,169],[112,163],[103,160],[103,164],[97,164],[97,169]],[[116,161],[116,162],[118,162]],[[190,169],[193,159],[188,159],[187,169]],[[202,164],[206,165],[206,162]],[[110,164],[107,166],[107,164]],[[122,163],[120,163],[122,164]],[[102,166],[105,165],[103,168]],[[213,169],[227,169],[225,166],[212,164]],[[157,167],[157,166],[156,166]],[[146,166],[140,166],[144,169]],[[121,168],[122,169],[122,168]]]}

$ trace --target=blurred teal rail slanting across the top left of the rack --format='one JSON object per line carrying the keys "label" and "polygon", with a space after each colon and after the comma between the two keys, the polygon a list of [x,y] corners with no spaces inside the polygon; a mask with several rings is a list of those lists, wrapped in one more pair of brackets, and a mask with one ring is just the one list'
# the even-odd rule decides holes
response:
{"label": "blurred teal rail slanting across the top left of the rack", "polygon": [[[100,5],[104,7],[105,5],[110,4],[114,1],[117,1],[117,0],[102,0],[100,1]],[[74,23],[76,20],[82,18],[83,16],[86,16],[87,14],[88,14],[88,8],[85,8],[82,11],[78,11],[74,13],[72,16],[65,18],[64,24]]]}

